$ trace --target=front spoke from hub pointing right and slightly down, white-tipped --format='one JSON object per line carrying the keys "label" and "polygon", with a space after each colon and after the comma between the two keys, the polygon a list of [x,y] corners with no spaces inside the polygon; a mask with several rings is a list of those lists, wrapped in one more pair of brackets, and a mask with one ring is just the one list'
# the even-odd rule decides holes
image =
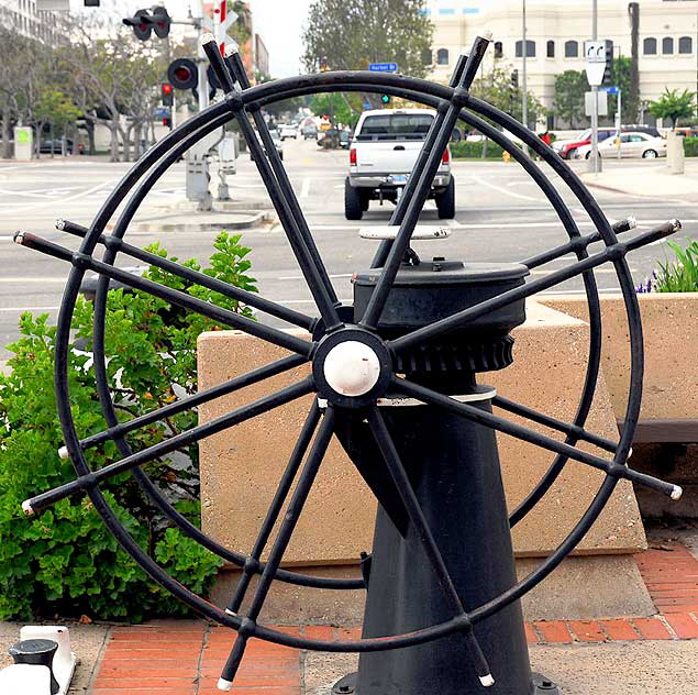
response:
{"label": "front spoke from hub pointing right and slightly down, white-tipped", "polygon": [[524,442],[536,444],[538,446],[547,449],[553,453],[562,454],[580,463],[586,463],[594,468],[608,473],[612,477],[625,478],[633,483],[640,483],[641,485],[645,485],[646,487],[651,487],[652,489],[668,495],[672,499],[678,499],[680,497],[682,489],[677,485],[665,483],[664,481],[660,481],[651,475],[645,475],[644,473],[638,473],[624,464],[620,464],[614,461],[607,461],[606,459],[595,456],[586,451],[580,451],[575,446],[570,446],[564,442],[558,442],[551,437],[546,437],[545,434],[541,434],[503,418],[499,418],[491,412],[480,410],[479,408],[466,402],[459,402],[448,396],[444,396],[443,394],[432,390],[431,388],[420,386],[419,384],[408,382],[407,379],[395,377],[391,385],[401,394],[417,398],[426,404],[440,406],[446,410],[451,410],[452,412],[463,416],[467,420],[477,422],[478,424],[484,424],[485,427],[489,427],[498,432],[509,434],[510,437],[514,437],[516,439],[520,439]]}

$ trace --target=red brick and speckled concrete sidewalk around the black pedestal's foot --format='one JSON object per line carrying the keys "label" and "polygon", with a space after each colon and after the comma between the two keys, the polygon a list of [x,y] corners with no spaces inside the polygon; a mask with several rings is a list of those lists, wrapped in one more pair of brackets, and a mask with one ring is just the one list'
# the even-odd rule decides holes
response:
{"label": "red brick and speckled concrete sidewalk around the black pedestal's foot", "polygon": [[[636,555],[657,615],[651,618],[555,620],[527,625],[534,669],[564,695],[697,695],[698,560],[678,542]],[[315,639],[357,639],[359,628],[281,627]],[[199,620],[114,627],[92,672],[88,695],[214,695],[234,632]],[[298,652],[251,640],[235,695],[330,695],[355,670],[355,654]],[[81,679],[85,682],[85,679]],[[77,683],[76,683],[77,685]]]}

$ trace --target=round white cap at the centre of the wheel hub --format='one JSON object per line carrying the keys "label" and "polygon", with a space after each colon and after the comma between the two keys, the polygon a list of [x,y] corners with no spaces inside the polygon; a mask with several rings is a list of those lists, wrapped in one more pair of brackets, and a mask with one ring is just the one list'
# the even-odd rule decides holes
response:
{"label": "round white cap at the centre of the wheel hub", "polygon": [[378,355],[357,340],[347,340],[330,350],[322,365],[328,384],[342,396],[363,396],[378,382]]}

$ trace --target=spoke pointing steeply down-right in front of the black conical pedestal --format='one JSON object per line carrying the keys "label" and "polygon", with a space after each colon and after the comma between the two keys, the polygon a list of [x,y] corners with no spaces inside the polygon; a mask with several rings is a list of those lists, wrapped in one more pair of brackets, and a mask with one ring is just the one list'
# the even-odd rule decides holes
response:
{"label": "spoke pointing steeply down-right in front of the black conical pedestal", "polygon": [[[374,439],[376,440],[376,444],[378,444],[378,449],[383,454],[383,459],[386,462],[386,466],[390,472],[395,488],[407,509],[410,522],[414,527],[417,536],[424,549],[424,553],[436,574],[442,592],[451,602],[456,616],[467,618],[467,613],[463,606],[463,602],[458,596],[443,555],[441,554],[439,545],[436,544],[431,529],[429,528],[424,512],[420,507],[417,495],[412,488],[412,484],[410,483],[407,472],[405,471],[405,466],[400,461],[400,456],[395,448],[390,432],[388,432],[386,422],[378,408],[375,406],[368,411],[368,424]],[[480,649],[477,638],[473,633],[473,630],[466,630],[464,632],[464,637],[467,647],[466,653],[470,659],[473,670],[477,673],[477,676],[483,685],[491,685],[494,680],[489,671],[489,665],[483,654],[483,650]]]}

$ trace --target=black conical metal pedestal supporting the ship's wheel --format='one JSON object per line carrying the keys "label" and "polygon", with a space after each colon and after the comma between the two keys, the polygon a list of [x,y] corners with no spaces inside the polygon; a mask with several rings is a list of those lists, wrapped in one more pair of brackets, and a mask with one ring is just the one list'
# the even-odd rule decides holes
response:
{"label": "black conical metal pedestal supporting the ship's wheel", "polygon": [[[477,405],[490,410],[488,400]],[[458,594],[473,609],[516,583],[492,430],[426,406],[381,408]],[[402,533],[400,532],[402,531]],[[379,507],[363,635],[400,635],[448,620],[446,600],[411,525]],[[518,602],[475,627],[495,685],[484,688],[459,635],[362,654],[358,695],[536,693]]]}

